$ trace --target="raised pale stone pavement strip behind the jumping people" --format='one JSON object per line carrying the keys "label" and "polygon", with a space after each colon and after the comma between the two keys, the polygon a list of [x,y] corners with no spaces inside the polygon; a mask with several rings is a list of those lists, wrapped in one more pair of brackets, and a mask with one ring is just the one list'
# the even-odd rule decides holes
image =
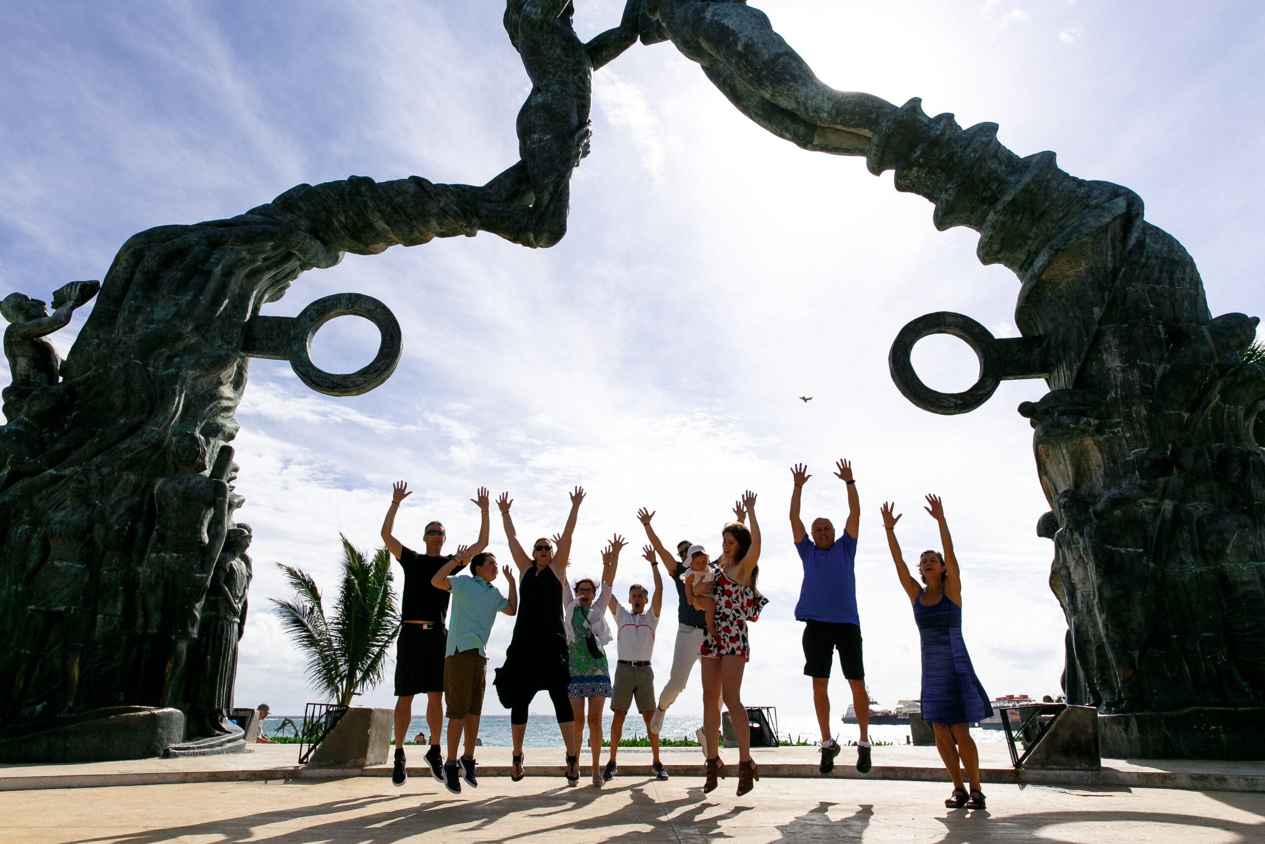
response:
{"label": "raised pale stone pavement strip behind the jumping people", "polygon": [[[424,748],[409,748],[409,772],[426,776]],[[980,777],[996,785],[1059,785],[1069,787],[1185,788],[1193,791],[1256,791],[1265,792],[1265,762],[1208,760],[1133,760],[1103,759],[1102,771],[1018,771],[1011,767],[1006,745],[980,743]],[[526,748],[528,776],[559,777],[563,764],[562,748]],[[503,778],[510,773],[510,748],[484,747],[476,754],[479,769],[487,778]],[[815,748],[756,748],[753,758],[765,779],[802,777],[818,779]],[[300,768],[299,748],[292,744],[253,744],[245,753],[183,759],[137,759],[130,762],[92,762],[78,764],[0,764],[0,792],[32,788],[73,788],[176,785],[197,782],[277,781],[296,778],[338,778],[349,776],[390,777],[390,766],[352,771]],[[588,759],[581,755],[581,762]],[[603,760],[605,760],[603,754]],[[673,777],[701,777],[702,753],[698,748],[664,748],[662,754]],[[721,758],[734,764],[736,750],[722,750]],[[940,755],[935,748],[912,745],[874,748],[874,768],[869,774],[856,773],[856,750],[844,748],[830,778],[898,779],[946,783]],[[650,774],[650,752],[645,748],[622,748],[620,768],[627,776]],[[582,771],[583,772],[583,771]],[[588,777],[582,779],[587,782]]]}

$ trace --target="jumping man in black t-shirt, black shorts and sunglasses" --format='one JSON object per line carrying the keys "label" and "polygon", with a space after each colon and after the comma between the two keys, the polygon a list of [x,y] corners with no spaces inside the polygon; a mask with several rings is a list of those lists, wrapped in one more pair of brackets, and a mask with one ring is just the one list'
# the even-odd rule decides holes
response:
{"label": "jumping man in black t-shirt, black shorts and sunglasses", "polygon": [[[444,548],[444,525],[439,521],[426,524],[424,542],[426,553],[419,554],[405,548],[392,535],[395,515],[400,502],[407,499],[409,485],[404,481],[391,490],[391,507],[382,520],[382,542],[387,544],[391,555],[400,561],[404,568],[404,596],[400,600],[400,638],[396,640],[396,753],[395,771],[391,782],[402,786],[409,778],[405,768],[404,743],[407,739],[409,721],[412,720],[414,695],[426,695],[426,729],[430,734],[430,750],[426,764],[435,779],[444,781],[444,758],[439,750],[439,738],[444,724],[444,652],[448,642],[448,599],[449,592],[435,588],[430,578],[448,564],[454,554],[441,554]],[[488,492],[479,487],[471,499],[483,514],[479,523],[478,542],[469,548],[458,547],[457,553],[473,557],[487,548]],[[460,571],[460,567],[453,569]]]}

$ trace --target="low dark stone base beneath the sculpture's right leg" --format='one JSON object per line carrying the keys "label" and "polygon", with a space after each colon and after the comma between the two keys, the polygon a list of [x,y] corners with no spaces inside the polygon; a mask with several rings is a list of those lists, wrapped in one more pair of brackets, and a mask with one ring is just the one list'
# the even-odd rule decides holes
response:
{"label": "low dark stone base beneath the sculpture's right leg", "polygon": [[1112,759],[1265,759],[1265,709],[1101,715],[1098,739]]}

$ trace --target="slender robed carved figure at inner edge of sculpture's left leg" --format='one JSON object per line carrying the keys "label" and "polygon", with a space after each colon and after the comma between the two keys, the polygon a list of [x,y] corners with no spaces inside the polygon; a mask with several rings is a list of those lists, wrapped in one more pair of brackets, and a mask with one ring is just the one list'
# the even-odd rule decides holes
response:
{"label": "slender robed carved figure at inner edge of sculpture's left leg", "polygon": [[238,640],[245,633],[247,588],[250,586],[250,525],[229,528],[202,605],[197,633],[199,680],[192,725],[196,735],[229,733],[224,725],[233,706]]}

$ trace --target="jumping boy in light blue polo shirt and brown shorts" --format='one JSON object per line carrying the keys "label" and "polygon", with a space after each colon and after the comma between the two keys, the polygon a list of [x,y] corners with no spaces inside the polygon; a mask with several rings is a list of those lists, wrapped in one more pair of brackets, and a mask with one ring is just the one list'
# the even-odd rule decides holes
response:
{"label": "jumping boy in light blue polo shirt and brown shorts", "polygon": [[[487,685],[487,654],[483,647],[492,633],[497,612],[514,615],[519,595],[514,574],[505,569],[510,583],[510,597],[492,586],[498,568],[495,554],[474,554],[471,574],[448,577],[466,563],[466,553],[458,552],[452,561],[435,572],[430,580],[435,588],[453,593],[453,606],[448,616],[448,648],[444,657],[444,705],[448,710],[448,762],[444,763],[444,787],[454,795],[462,792],[460,779],[471,788],[478,788],[474,776],[474,739],[478,736],[479,714],[483,711],[483,690]],[[457,758],[457,742],[466,733],[466,754]],[[458,778],[458,774],[460,778]]]}

